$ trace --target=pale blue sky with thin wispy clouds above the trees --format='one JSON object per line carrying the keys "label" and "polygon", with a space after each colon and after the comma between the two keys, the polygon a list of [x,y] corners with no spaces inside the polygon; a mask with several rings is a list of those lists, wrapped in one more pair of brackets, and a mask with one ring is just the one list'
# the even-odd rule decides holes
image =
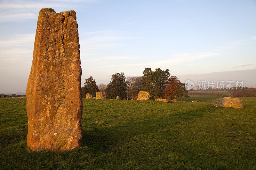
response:
{"label": "pale blue sky with thin wispy clouds above the trees", "polygon": [[76,11],[82,85],[160,67],[256,87],[255,0],[0,0],[0,93],[26,92],[41,8]]}

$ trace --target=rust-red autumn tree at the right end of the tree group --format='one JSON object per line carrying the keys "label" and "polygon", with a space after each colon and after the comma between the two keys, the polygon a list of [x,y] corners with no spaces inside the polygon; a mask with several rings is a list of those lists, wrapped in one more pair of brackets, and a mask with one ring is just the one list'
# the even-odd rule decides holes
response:
{"label": "rust-red autumn tree at the right end of the tree group", "polygon": [[185,87],[185,83],[181,83],[176,76],[171,77],[171,81],[168,82],[163,95],[164,99],[181,99],[186,97],[189,99],[188,92]]}

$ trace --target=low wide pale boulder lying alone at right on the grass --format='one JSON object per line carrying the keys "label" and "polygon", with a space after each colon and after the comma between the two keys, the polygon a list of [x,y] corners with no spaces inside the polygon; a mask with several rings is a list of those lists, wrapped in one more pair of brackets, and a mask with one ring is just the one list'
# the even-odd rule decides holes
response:
{"label": "low wide pale boulder lying alone at right on the grass", "polygon": [[238,98],[231,98],[231,97],[223,97],[217,100],[212,101],[212,106],[216,107],[232,107],[235,109],[244,108],[242,101]]}

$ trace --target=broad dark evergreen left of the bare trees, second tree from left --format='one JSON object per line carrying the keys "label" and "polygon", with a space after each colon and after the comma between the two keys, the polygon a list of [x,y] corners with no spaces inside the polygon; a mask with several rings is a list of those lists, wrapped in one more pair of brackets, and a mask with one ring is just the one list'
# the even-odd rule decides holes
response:
{"label": "broad dark evergreen left of the bare trees, second tree from left", "polygon": [[123,72],[113,74],[106,88],[107,99],[115,99],[117,96],[121,99],[126,98],[126,82]]}

